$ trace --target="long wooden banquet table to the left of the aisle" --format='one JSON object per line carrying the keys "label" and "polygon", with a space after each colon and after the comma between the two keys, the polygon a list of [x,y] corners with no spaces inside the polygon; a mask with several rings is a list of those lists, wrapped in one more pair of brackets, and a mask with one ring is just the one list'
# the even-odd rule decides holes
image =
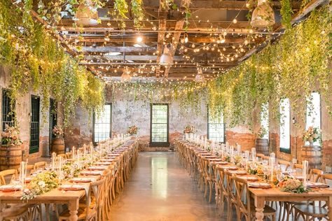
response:
{"label": "long wooden banquet table to the left of the aisle", "polygon": [[[127,152],[129,148],[138,148],[137,141],[130,141],[130,144],[123,143],[120,145],[116,150],[113,150],[109,155],[110,156],[120,156]],[[107,166],[104,166],[105,170]],[[85,177],[85,178],[94,178],[95,180],[99,180],[102,178],[101,175],[80,175],[78,177]],[[69,181],[65,181],[62,184],[69,184]],[[73,184],[73,183],[71,183]],[[90,183],[79,183],[79,185],[87,187]],[[45,194],[41,194],[36,196],[34,199],[30,199],[29,201],[22,201],[20,198],[22,197],[21,191],[15,192],[1,192],[0,191],[0,212],[4,209],[6,204],[67,204],[70,217],[70,221],[78,220],[78,208],[79,208],[79,201],[82,197],[85,197],[85,190],[60,190],[59,187],[50,190],[50,192],[46,192]],[[50,220],[48,212],[46,212],[46,219]]]}

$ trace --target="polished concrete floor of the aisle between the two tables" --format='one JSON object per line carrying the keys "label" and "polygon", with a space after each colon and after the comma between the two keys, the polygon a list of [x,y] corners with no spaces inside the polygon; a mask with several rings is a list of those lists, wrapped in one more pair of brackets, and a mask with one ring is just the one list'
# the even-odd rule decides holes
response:
{"label": "polished concrete floor of the aisle between the two tables", "polygon": [[175,152],[139,152],[123,192],[111,208],[114,221],[226,220],[209,204]]}

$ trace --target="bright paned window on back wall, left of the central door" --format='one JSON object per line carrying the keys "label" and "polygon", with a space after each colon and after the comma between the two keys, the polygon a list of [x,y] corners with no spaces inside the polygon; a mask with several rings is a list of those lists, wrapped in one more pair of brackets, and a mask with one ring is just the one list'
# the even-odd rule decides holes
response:
{"label": "bright paned window on back wall, left of the central door", "polygon": [[98,143],[111,137],[111,104],[105,104],[102,112],[94,114],[93,142]]}

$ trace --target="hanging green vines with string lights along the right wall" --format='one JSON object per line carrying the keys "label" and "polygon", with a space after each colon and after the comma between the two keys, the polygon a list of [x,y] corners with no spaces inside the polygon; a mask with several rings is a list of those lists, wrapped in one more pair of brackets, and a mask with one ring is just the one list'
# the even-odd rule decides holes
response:
{"label": "hanging green vines with string lights along the right wall", "polygon": [[209,83],[213,115],[223,112],[231,126],[251,124],[253,110],[268,102],[271,117],[279,120],[279,101],[287,97],[293,114],[304,120],[306,98],[314,90],[322,94],[327,108],[331,107],[329,16],[326,7],[312,12],[275,44]]}

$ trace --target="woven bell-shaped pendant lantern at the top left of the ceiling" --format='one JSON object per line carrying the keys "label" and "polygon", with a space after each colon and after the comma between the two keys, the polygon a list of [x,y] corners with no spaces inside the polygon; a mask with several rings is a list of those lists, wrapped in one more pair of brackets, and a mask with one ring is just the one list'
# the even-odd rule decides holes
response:
{"label": "woven bell-shaped pendant lantern at the top left of the ceiling", "polygon": [[81,3],[76,11],[76,24],[83,26],[95,26],[98,24],[98,12],[92,9],[90,0]]}

